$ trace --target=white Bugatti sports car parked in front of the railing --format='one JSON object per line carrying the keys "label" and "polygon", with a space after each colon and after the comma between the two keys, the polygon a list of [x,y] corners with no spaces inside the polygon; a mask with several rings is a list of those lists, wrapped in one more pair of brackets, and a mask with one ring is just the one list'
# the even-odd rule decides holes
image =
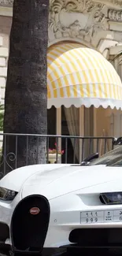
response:
{"label": "white Bugatti sports car parked in front of the railing", "polygon": [[0,180],[0,251],[122,245],[122,147],[83,165],[31,165]]}

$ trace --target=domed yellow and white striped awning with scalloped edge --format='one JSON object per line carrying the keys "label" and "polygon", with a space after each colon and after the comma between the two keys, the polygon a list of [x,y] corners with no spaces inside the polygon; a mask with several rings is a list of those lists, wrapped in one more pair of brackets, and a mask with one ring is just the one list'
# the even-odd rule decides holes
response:
{"label": "domed yellow and white striped awning with scalloped edge", "polygon": [[61,43],[48,50],[48,108],[64,105],[122,109],[122,83],[113,65],[96,50]]}

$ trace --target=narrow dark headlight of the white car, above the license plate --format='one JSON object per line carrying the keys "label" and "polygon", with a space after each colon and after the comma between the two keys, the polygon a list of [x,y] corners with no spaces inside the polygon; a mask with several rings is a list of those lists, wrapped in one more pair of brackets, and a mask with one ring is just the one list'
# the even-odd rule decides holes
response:
{"label": "narrow dark headlight of the white car, above the license plate", "polygon": [[122,204],[122,192],[102,193],[99,198],[105,205]]}

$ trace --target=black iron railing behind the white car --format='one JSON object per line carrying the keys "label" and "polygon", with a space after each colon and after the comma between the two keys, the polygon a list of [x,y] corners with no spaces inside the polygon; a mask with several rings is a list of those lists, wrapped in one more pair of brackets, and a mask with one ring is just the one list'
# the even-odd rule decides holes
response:
{"label": "black iron railing behind the white car", "polygon": [[[77,164],[83,161],[89,154],[105,154],[117,144],[121,144],[121,139],[113,137],[80,137],[67,135],[33,135],[33,134],[0,134],[1,138],[1,163],[0,174],[6,173],[20,167],[19,159],[24,158],[23,165],[38,164],[40,154],[40,141],[46,139],[46,162],[50,163],[49,149],[54,148],[57,143],[55,163]],[[2,150],[3,142],[3,150]],[[31,142],[31,144],[30,144]],[[9,147],[11,145],[12,147]],[[23,150],[24,145],[24,150]],[[31,145],[31,147],[30,147]],[[34,146],[33,146],[34,145]],[[12,150],[11,150],[12,149]],[[34,149],[34,150],[33,150]],[[58,150],[64,150],[61,156]],[[22,154],[20,156],[20,154]],[[35,161],[30,162],[30,158]]]}

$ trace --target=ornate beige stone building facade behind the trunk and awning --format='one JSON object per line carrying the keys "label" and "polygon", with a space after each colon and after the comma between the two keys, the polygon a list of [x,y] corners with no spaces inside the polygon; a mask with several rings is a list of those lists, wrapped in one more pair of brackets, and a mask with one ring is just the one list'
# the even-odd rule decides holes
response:
{"label": "ornate beige stone building facade behind the trunk and awning", "polygon": [[[9,32],[13,15],[13,0],[0,0],[0,88],[4,102]],[[122,0],[50,0],[49,47],[61,42],[79,43],[100,52],[111,61],[122,79],[122,60],[114,58],[122,51]],[[51,120],[50,120],[51,117]],[[70,134],[65,110],[48,110],[48,124],[56,123],[50,134]],[[122,111],[89,109],[81,106],[78,113],[79,132],[76,135],[122,135]]]}

